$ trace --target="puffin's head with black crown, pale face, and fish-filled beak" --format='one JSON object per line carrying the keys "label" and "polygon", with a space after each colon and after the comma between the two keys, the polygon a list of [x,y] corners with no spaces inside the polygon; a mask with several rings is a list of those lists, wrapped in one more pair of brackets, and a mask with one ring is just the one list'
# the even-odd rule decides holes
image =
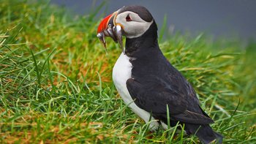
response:
{"label": "puffin's head with black crown, pale face, and fish-filled beak", "polygon": [[145,7],[124,6],[102,20],[97,30],[97,37],[105,48],[105,37],[111,37],[123,48],[122,36],[128,39],[141,37],[152,23],[154,18]]}

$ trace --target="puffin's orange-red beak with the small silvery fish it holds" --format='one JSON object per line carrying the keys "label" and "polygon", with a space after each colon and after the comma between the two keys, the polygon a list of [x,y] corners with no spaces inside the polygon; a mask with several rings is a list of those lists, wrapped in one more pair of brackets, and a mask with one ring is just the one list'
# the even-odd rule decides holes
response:
{"label": "puffin's orange-red beak with the small silvery fish it holds", "polygon": [[123,49],[122,29],[120,25],[115,23],[116,15],[117,12],[114,12],[99,23],[97,37],[102,42],[104,48],[107,48],[105,37],[111,37]]}

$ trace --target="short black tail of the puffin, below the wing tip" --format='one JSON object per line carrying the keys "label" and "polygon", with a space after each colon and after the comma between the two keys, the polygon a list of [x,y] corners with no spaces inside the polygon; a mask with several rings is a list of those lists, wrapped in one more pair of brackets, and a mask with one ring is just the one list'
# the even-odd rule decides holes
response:
{"label": "short black tail of the puffin, below the wing tip", "polygon": [[[205,144],[208,143],[222,143],[223,136],[211,129],[211,126],[207,125],[197,125],[197,124],[187,124],[188,134],[195,134],[199,140]],[[185,126],[185,127],[186,127]]]}

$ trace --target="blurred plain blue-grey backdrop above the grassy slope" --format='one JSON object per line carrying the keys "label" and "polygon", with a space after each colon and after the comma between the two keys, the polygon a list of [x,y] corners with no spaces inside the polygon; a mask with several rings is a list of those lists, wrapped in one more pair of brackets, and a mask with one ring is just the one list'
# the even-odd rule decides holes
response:
{"label": "blurred plain blue-grey backdrop above the grassy slope", "polygon": [[204,32],[214,38],[256,39],[256,0],[51,0],[75,15],[86,15],[105,2],[99,12],[108,15],[124,5],[142,5],[161,28],[167,16],[167,33]]}

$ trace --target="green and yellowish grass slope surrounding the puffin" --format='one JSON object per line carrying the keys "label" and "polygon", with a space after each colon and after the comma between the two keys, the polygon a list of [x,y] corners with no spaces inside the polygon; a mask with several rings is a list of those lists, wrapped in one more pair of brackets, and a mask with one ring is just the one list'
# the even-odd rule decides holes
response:
{"label": "green and yellowish grass slope surrounding the puffin", "polygon": [[[97,39],[99,9],[72,17],[48,3],[0,0],[0,143],[198,142],[174,134],[178,125],[151,133],[124,105],[111,80],[121,50],[108,39],[107,55]],[[159,45],[224,143],[255,143],[255,42],[176,34]]]}

